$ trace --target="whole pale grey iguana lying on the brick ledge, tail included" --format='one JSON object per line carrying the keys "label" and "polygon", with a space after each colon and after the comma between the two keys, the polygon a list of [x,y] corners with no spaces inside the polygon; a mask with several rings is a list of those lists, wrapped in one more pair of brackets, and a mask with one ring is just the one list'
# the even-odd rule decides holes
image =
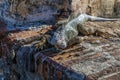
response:
{"label": "whole pale grey iguana lying on the brick ledge, tail included", "polygon": [[[117,21],[120,19],[108,19],[108,18],[100,18],[94,17],[87,14],[81,14],[77,18],[69,21],[66,25],[62,25],[54,32],[50,44],[56,46],[57,48],[66,48],[68,46],[69,41],[76,38],[79,30],[78,27],[81,27],[87,21]],[[79,25],[79,26],[78,26]],[[80,29],[80,28],[79,28]],[[90,30],[94,32],[94,30]]]}

